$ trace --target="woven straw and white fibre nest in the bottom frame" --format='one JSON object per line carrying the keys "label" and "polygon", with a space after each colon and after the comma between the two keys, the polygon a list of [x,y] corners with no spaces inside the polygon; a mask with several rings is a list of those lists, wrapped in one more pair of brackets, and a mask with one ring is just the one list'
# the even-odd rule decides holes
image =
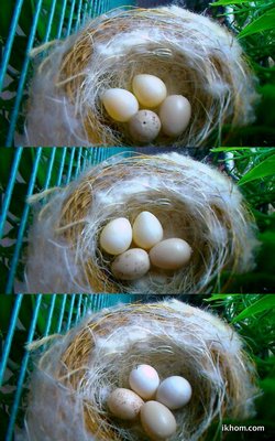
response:
{"label": "woven straw and white fibre nest in the bottom frame", "polygon": [[179,375],[191,384],[190,402],[174,411],[170,441],[202,440],[213,421],[253,413],[254,366],[228,324],[176,300],[130,304],[88,316],[44,353],[31,383],[28,439],[148,440],[139,421],[117,420],[106,405],[144,363],[161,379]]}

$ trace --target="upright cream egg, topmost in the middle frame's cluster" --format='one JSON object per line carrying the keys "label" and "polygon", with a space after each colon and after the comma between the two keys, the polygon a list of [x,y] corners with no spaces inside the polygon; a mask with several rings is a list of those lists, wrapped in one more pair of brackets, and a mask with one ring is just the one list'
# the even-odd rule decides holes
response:
{"label": "upright cream egg, topmost in the middle frame's cluster", "polygon": [[163,227],[156,216],[142,212],[133,223],[133,240],[144,249],[152,248],[163,238]]}

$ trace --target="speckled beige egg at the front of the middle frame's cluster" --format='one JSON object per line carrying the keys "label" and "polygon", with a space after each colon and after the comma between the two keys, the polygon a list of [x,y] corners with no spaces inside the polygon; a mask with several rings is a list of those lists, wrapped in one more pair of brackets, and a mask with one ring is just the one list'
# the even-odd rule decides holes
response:
{"label": "speckled beige egg at the front of the middle frame's cluster", "polygon": [[117,279],[135,280],[143,277],[150,270],[148,255],[144,249],[131,248],[118,256],[111,271]]}

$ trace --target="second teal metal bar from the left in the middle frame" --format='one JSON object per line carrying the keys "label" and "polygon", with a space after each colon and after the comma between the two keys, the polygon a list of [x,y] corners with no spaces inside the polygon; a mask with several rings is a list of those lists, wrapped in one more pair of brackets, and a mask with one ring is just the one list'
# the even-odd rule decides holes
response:
{"label": "second teal metal bar from the left in the middle frame", "polygon": [[[40,147],[40,148],[36,149],[36,158],[35,158],[35,161],[34,161],[34,164],[33,164],[32,174],[31,174],[31,178],[30,178],[30,183],[29,183],[29,187],[28,187],[28,192],[26,192],[26,198],[32,194],[33,189],[34,189],[41,153],[42,153],[42,148]],[[18,232],[18,238],[16,238],[16,243],[15,243],[14,254],[13,254],[13,257],[12,257],[12,260],[11,260],[11,267],[10,267],[10,272],[9,272],[8,283],[7,283],[7,293],[10,293],[12,291],[13,279],[14,279],[14,276],[15,276],[15,270],[16,270],[16,266],[18,266],[18,260],[19,260],[19,255],[20,255],[20,250],[21,250],[21,246],[22,246],[22,240],[23,240],[23,237],[24,237],[24,230],[25,230],[25,224],[26,224],[29,211],[30,211],[30,206],[29,206],[29,204],[25,204],[23,213],[22,213],[22,216],[21,216],[21,222],[20,222],[20,227],[19,227],[19,232]]]}

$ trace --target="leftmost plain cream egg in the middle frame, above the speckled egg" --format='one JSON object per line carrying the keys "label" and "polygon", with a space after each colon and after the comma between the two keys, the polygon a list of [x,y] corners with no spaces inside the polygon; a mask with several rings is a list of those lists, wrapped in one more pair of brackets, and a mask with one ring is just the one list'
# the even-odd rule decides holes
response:
{"label": "leftmost plain cream egg in the middle frame, above the speckled egg", "polygon": [[130,247],[132,237],[130,222],[125,217],[118,217],[105,226],[100,234],[99,244],[105,251],[116,256]]}

